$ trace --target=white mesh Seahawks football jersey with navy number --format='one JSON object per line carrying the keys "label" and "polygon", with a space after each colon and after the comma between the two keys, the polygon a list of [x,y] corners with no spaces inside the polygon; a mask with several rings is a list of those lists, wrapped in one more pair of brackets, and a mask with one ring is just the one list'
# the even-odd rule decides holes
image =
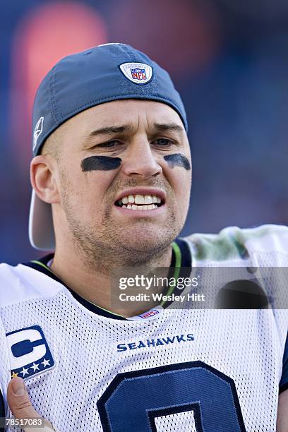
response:
{"label": "white mesh Seahawks football jersey with navy number", "polygon": [[[66,287],[47,267],[51,258],[0,265],[6,416],[6,388],[18,375],[37,412],[61,432],[276,430],[279,392],[288,388],[284,306],[215,309],[187,301],[178,308],[170,301],[125,319]],[[193,234],[176,240],[175,263],[191,275],[287,268],[288,228]],[[273,283],[265,289],[273,304]]]}

